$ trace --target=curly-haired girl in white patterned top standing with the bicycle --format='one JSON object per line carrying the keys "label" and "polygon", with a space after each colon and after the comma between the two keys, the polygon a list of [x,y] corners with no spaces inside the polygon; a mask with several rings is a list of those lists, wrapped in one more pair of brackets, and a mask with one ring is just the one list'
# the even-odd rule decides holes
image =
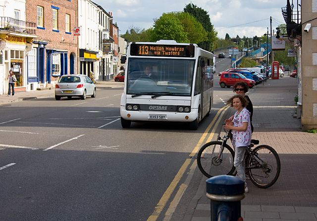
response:
{"label": "curly-haired girl in white patterned top standing with the bicycle", "polygon": [[247,110],[248,100],[241,95],[234,95],[227,104],[234,107],[237,112],[234,114],[233,122],[226,119],[226,125],[223,126],[225,130],[232,130],[233,140],[232,144],[235,148],[234,166],[237,169],[238,176],[244,181],[245,192],[248,192],[244,154],[246,146],[251,144],[251,123],[250,112]]}

